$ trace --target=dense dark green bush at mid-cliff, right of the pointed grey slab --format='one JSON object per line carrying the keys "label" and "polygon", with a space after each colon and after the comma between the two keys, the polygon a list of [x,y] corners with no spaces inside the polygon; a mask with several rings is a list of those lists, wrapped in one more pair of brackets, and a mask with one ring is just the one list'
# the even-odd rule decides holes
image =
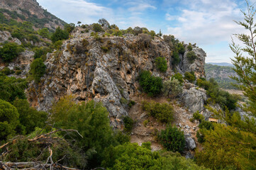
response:
{"label": "dense dark green bush at mid-cliff, right of the pointed grey slab", "polygon": [[149,96],[157,96],[162,89],[162,79],[152,76],[150,71],[140,72],[139,84]]}

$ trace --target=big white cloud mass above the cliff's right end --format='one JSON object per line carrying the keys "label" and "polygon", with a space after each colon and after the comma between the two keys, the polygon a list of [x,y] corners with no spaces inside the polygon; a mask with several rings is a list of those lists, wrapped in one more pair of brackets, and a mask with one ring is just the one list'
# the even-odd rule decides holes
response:
{"label": "big white cloud mass above the cliff's right end", "polygon": [[[245,31],[233,22],[233,20],[243,20],[239,8],[235,2],[230,0],[193,1],[189,8],[180,11],[181,15],[177,18],[175,26],[173,24],[168,26],[167,34],[174,35],[187,43],[196,42],[200,47],[206,47],[208,55],[206,61],[229,61],[229,57],[233,57],[229,49],[223,51],[221,47],[216,47],[212,50],[210,47],[226,42],[224,46],[228,48],[230,35]],[[167,20],[172,17],[174,16],[166,14]]]}

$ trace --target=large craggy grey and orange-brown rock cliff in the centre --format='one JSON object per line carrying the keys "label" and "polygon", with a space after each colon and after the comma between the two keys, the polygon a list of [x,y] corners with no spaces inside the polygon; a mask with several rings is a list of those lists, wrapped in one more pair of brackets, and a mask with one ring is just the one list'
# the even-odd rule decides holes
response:
{"label": "large craggy grey and orange-brown rock cliff in the centre", "polygon": [[[125,35],[123,37],[85,33],[76,28],[71,39],[65,40],[59,50],[48,54],[45,65],[47,73],[40,84],[31,83],[28,96],[33,106],[47,110],[53,101],[67,94],[77,101],[94,99],[101,101],[108,109],[111,125],[118,127],[123,115],[128,115],[130,96],[141,93],[136,78],[141,70],[150,70],[153,75],[169,79],[179,72],[193,71],[196,77],[204,77],[206,53],[197,47],[198,56],[189,64],[186,52],[177,67],[172,66],[172,51],[162,38],[152,39],[150,35]],[[165,57],[167,72],[161,73],[155,67],[155,58]]]}

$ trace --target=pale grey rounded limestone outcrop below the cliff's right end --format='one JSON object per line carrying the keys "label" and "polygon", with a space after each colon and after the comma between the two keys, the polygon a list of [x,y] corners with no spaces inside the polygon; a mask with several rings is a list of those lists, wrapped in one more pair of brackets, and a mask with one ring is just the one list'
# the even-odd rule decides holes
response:
{"label": "pale grey rounded limestone outcrop below the cliff's right end", "polygon": [[190,89],[185,89],[182,94],[182,101],[184,106],[189,108],[191,113],[196,111],[204,110],[204,101],[206,101],[206,91],[204,89],[196,89],[192,87]]}

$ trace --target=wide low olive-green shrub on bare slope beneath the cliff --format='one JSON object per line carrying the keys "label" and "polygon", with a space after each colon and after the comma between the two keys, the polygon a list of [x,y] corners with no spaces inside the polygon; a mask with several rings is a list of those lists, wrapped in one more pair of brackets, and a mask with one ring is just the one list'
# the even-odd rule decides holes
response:
{"label": "wide low olive-green shrub on bare slope beneath the cliff", "polygon": [[160,120],[162,123],[171,123],[173,118],[173,107],[168,103],[146,102],[142,103],[143,111]]}

